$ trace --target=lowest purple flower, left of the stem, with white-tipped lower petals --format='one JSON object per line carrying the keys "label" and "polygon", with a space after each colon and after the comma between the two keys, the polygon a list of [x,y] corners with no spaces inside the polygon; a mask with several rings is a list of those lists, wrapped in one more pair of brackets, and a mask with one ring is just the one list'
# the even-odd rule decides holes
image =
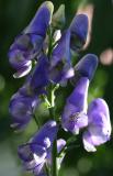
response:
{"label": "lowest purple flower, left of the stem, with white-tipped lower petals", "polygon": [[56,121],[46,122],[29,143],[19,146],[19,156],[26,170],[38,175],[43,172],[49,148],[57,136],[58,127]]}

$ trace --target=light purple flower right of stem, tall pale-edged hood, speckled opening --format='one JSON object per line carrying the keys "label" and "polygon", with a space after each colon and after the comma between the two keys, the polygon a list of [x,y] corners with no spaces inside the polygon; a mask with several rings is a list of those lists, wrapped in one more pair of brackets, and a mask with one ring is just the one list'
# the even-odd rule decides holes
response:
{"label": "light purple flower right of stem, tall pale-edged hood, speckled opening", "polygon": [[72,94],[67,98],[66,106],[61,116],[61,124],[66,131],[78,134],[81,128],[88,125],[88,87],[89,79],[87,77],[81,77],[77,82]]}

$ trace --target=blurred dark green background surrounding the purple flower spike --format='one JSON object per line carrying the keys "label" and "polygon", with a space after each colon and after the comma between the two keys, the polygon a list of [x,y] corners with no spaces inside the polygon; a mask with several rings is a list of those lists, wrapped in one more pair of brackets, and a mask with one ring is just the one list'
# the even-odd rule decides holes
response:
{"label": "blurred dark green background surrounding the purple flower spike", "polygon": [[[15,134],[10,128],[8,106],[10,97],[24,81],[13,79],[13,69],[8,61],[8,50],[14,37],[27,25],[42,0],[0,0],[0,176],[25,176],[16,155],[18,144],[26,141],[35,131],[31,123],[25,132]],[[67,25],[76,12],[89,15],[89,42],[80,53],[94,53],[100,57],[100,66],[90,85],[89,101],[103,97],[113,122],[113,1],[112,0],[53,0],[55,10],[60,3],[66,6]],[[72,88],[70,87],[70,90]],[[69,91],[70,91],[69,90]],[[68,95],[67,89],[63,90]],[[57,98],[60,99],[60,95]],[[43,114],[44,116],[44,114]],[[95,153],[87,153],[80,146],[70,151],[63,163],[60,176],[112,176],[113,136]]]}

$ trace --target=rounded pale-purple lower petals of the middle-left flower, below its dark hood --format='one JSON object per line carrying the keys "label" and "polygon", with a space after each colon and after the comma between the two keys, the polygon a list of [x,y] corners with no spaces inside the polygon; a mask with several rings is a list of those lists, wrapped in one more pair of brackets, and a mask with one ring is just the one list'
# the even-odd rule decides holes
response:
{"label": "rounded pale-purple lower petals of the middle-left flower, below its dark hood", "polygon": [[33,117],[33,111],[38,105],[36,97],[23,96],[16,92],[10,100],[9,111],[12,116],[12,128],[23,130]]}

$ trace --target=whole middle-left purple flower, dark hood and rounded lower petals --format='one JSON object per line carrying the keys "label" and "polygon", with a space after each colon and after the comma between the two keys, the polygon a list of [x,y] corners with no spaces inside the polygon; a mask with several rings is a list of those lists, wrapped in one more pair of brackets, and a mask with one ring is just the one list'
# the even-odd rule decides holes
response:
{"label": "whole middle-left purple flower, dark hood and rounded lower petals", "polygon": [[46,56],[41,56],[32,75],[19,92],[10,101],[10,113],[12,116],[12,127],[22,130],[33,117],[33,110],[39,103],[37,96],[45,94],[45,86],[48,84],[48,62]]}

